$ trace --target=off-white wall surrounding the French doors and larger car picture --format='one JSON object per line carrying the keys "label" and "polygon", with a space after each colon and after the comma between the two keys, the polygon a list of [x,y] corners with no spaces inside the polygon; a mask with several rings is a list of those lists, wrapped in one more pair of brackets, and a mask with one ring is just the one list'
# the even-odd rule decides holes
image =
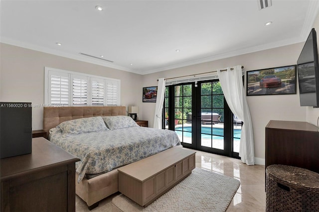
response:
{"label": "off-white wall surrounding the French doors and larger car picture", "polygon": [[[143,86],[154,86],[157,84],[157,79],[161,77],[170,78],[198,74],[235,65],[243,65],[245,71],[295,65],[303,45],[304,43],[298,43],[144,75]],[[298,88],[295,95],[249,96],[247,102],[253,122],[256,163],[262,164],[265,159],[265,126],[269,120],[306,121],[306,107],[300,106]],[[155,103],[143,103],[141,110],[143,110],[144,117],[149,120],[152,126]]]}

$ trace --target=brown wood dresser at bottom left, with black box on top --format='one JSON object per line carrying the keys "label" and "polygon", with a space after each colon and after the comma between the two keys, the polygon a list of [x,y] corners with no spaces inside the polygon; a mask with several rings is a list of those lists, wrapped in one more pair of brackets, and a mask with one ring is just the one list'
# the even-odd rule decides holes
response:
{"label": "brown wood dresser at bottom left, with black box on top", "polygon": [[43,137],[31,154],[1,159],[1,212],[75,212],[76,161]]}

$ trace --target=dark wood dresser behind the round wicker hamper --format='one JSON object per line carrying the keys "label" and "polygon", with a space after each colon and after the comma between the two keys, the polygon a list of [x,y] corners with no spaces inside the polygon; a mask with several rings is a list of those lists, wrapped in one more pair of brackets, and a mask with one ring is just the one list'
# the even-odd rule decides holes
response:
{"label": "dark wood dresser behind the round wicker hamper", "polygon": [[266,166],[282,164],[319,173],[318,127],[304,121],[271,120],[266,126]]}

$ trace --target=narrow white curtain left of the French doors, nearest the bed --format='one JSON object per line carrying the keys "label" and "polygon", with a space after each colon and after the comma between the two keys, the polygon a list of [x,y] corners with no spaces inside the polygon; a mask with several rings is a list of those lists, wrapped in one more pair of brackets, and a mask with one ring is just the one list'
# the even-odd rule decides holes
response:
{"label": "narrow white curtain left of the French doors, nearest the bed", "polygon": [[155,114],[154,114],[154,123],[153,128],[161,129],[161,115],[164,103],[164,94],[165,94],[165,79],[159,79],[158,93],[156,98]]}

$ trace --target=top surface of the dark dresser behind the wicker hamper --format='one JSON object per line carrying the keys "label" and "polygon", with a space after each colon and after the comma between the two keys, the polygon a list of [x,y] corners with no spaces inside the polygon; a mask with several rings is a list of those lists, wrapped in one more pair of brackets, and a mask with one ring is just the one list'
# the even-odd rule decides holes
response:
{"label": "top surface of the dark dresser behind the wicker hamper", "polygon": [[266,128],[318,132],[317,126],[315,126],[314,124],[308,123],[306,121],[270,120]]}

